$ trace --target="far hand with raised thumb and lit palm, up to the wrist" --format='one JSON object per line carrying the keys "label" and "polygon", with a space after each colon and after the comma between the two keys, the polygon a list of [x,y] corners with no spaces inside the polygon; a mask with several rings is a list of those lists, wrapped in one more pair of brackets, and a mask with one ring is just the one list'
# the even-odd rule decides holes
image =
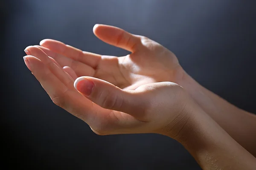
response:
{"label": "far hand with raised thumb and lit palm, up to the wrist", "polygon": [[102,41],[130,51],[123,57],[93,54],[56,40],[42,40],[41,48],[67,73],[76,79],[96,77],[122,89],[134,90],[153,82],[177,82],[183,74],[177,57],[171,51],[147,37],[130,34],[121,28],[95,25],[94,34]]}

